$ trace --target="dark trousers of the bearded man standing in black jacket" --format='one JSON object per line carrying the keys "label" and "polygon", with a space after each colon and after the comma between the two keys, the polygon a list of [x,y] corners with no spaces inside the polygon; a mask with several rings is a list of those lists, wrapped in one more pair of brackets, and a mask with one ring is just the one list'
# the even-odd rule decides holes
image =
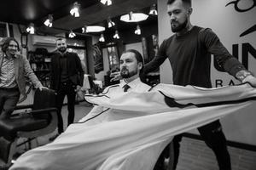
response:
{"label": "dark trousers of the bearded man standing in black jacket", "polygon": [[57,90],[56,103],[58,108],[58,133],[63,133],[63,119],[61,116],[61,108],[63,100],[67,95],[67,126],[73,123],[74,119],[74,105],[75,105],[75,92],[76,86],[72,82],[61,82],[60,88]]}

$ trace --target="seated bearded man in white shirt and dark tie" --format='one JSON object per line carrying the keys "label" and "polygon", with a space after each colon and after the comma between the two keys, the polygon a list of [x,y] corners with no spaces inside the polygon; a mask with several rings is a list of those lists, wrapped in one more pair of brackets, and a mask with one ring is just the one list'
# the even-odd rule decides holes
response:
{"label": "seated bearded man in white shirt and dark tie", "polygon": [[[141,82],[139,78],[140,71],[143,69],[143,56],[134,49],[129,49],[125,51],[120,57],[120,75],[123,79],[119,84],[109,86],[105,88],[103,94],[108,93],[108,96],[123,94],[125,92],[133,91],[133,92],[147,92],[151,87],[147,84]],[[90,119],[99,111],[103,111],[104,108],[102,106],[95,106],[87,116],[84,116],[80,122],[84,122],[84,120]],[[96,122],[108,122],[118,119],[128,118],[129,115],[115,115],[108,117],[97,118],[95,120],[90,120],[90,124],[95,124]],[[131,114],[130,114],[131,116]]]}

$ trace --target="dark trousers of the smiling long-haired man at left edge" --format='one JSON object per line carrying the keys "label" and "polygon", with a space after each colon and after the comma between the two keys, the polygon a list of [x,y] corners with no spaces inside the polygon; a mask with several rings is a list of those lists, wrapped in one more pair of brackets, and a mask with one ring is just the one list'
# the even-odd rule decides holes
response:
{"label": "dark trousers of the smiling long-haired man at left edge", "polygon": [[0,88],[0,119],[9,118],[20,99],[18,88]]}

